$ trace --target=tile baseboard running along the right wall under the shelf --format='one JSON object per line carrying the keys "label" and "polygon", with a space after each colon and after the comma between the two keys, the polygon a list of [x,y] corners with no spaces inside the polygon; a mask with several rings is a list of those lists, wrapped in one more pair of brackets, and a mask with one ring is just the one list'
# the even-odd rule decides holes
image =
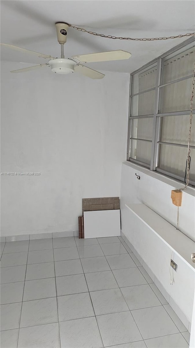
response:
{"label": "tile baseboard running along the right wall under the shelf", "polygon": [[124,239],[125,243],[129,246],[129,248],[132,250],[133,254],[136,256],[136,258],[142,263],[143,268],[148,273],[148,275],[153,280],[156,287],[159,289],[161,294],[164,296],[166,301],[169,303],[170,307],[173,309],[173,311],[177,314],[180,321],[184,324],[186,327],[186,331],[188,330],[190,332],[191,329],[191,323],[186,318],[183,311],[178,307],[178,305],[175,303],[175,301],[171,298],[169,293],[165,290],[164,286],[159,282],[158,278],[153,274],[150,267],[147,266],[147,264],[143,261],[142,257],[138,254],[138,252],[135,250],[134,246],[129,242],[128,238],[124,235],[124,233],[121,231],[121,237]]}

